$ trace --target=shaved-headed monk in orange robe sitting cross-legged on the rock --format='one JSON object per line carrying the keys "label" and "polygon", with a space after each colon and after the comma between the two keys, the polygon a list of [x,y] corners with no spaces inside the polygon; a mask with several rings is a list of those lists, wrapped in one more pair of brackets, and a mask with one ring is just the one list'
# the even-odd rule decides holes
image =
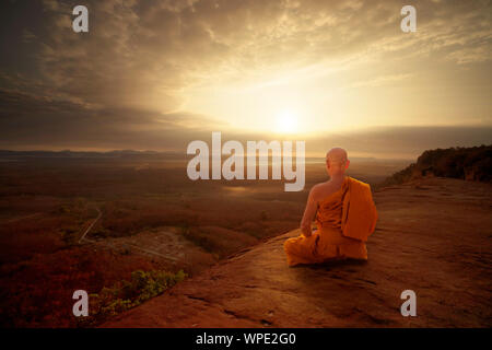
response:
{"label": "shaved-headed monk in orange robe sitting cross-legged on the rock", "polygon": [[[315,185],[301,221],[301,235],[289,238],[284,250],[289,266],[339,259],[367,259],[365,242],[374,232],[377,211],[371,187],[345,175],[347,151],[326,154],[329,180]],[[316,231],[312,223],[316,221]]]}

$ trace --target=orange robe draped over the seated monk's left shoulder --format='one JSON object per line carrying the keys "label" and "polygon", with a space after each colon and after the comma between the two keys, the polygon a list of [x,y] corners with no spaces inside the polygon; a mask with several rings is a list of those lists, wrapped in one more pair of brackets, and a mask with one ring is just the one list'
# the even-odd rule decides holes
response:
{"label": "orange robe draped over the seated monk's left shoulder", "polygon": [[309,237],[301,235],[285,241],[288,264],[366,260],[365,242],[374,232],[376,221],[370,185],[347,176],[338,191],[318,202],[317,230]]}

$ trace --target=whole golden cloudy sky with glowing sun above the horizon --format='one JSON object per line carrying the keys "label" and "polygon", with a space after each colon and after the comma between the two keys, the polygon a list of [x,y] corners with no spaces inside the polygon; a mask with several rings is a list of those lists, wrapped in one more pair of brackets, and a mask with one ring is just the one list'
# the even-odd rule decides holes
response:
{"label": "whole golden cloudy sky with glowing sun above the horizon", "polygon": [[186,152],[212,131],[312,155],[490,144],[491,16],[485,0],[4,0],[0,148]]}

